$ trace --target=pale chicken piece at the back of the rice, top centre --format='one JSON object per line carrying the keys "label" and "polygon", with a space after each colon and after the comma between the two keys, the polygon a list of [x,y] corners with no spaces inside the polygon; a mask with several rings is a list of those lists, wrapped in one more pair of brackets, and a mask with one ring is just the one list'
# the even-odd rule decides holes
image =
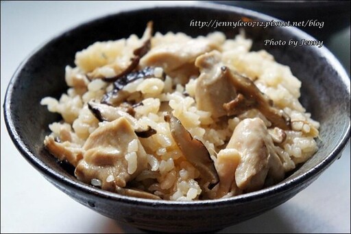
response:
{"label": "pale chicken piece at the back of the rice, top centre", "polygon": [[142,67],[162,67],[167,75],[179,78],[184,85],[191,75],[197,75],[198,69],[194,62],[197,56],[215,49],[210,40],[204,38],[190,39],[180,43],[163,44],[152,48],[143,58]]}

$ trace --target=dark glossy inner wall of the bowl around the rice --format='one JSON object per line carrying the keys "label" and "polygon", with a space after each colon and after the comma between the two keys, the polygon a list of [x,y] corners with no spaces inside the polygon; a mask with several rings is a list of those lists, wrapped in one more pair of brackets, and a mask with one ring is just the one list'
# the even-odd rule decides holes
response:
{"label": "dark glossy inner wall of the bowl around the rice", "polygon": [[[59,164],[43,148],[43,139],[49,134],[48,125],[58,121],[60,116],[49,113],[46,106],[40,105],[40,100],[47,96],[60,97],[66,91],[64,67],[74,66],[75,52],[99,40],[116,40],[130,34],[141,36],[150,20],[154,21],[154,32],[184,32],[198,36],[219,30],[228,38],[233,38],[239,33],[238,27],[191,27],[191,20],[239,21],[242,16],[259,21],[271,20],[237,8],[152,8],[106,16],[53,38],[21,64],[10,83],[4,110],[16,147],[46,176],[69,179],[88,189],[90,185],[80,183],[69,173],[70,169]],[[302,81],[301,102],[313,119],[321,124],[319,151],[289,178],[276,185],[284,189],[287,180],[301,183],[304,181],[302,175],[306,176],[306,180],[317,176],[346,145],[350,134],[350,81],[339,62],[324,47],[264,45],[267,38],[313,39],[299,30],[286,27],[245,27],[244,30],[247,37],[253,40],[253,50],[267,50],[278,62],[288,65],[293,75]]]}

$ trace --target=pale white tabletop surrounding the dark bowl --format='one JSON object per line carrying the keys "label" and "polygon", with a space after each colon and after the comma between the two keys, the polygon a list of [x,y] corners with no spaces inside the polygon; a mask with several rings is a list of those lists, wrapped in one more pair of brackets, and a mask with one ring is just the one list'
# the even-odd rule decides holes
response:
{"label": "pale white tabletop surrounding the dark bowl", "polygon": [[[160,3],[1,1],[1,106],[16,67],[36,47],[84,21],[145,5]],[[333,36],[326,46],[350,73],[350,28]],[[14,147],[1,107],[1,233],[12,232],[141,233],[78,204],[47,182]],[[220,231],[234,232],[350,233],[350,143],[341,159],[300,194]]]}

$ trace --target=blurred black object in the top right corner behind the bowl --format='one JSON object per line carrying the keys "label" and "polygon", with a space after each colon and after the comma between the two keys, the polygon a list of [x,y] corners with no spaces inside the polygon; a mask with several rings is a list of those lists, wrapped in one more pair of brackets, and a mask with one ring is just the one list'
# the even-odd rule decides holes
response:
{"label": "blurred black object in the top right corner behind the bowl", "polygon": [[[350,27],[350,1],[216,1],[255,10],[283,21],[322,23],[323,27],[299,28],[319,40]],[[311,23],[313,25],[313,23]],[[316,25],[316,24],[315,24]]]}

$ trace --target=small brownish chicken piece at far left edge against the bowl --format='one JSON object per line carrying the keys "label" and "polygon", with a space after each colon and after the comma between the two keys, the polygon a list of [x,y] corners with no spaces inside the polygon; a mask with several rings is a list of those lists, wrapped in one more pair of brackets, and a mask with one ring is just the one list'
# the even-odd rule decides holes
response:
{"label": "small brownish chicken piece at far left edge against the bowl", "polygon": [[47,136],[44,139],[44,144],[47,150],[60,161],[68,161],[73,166],[83,158],[84,150],[75,143],[64,141],[63,143],[56,142],[53,136]]}

